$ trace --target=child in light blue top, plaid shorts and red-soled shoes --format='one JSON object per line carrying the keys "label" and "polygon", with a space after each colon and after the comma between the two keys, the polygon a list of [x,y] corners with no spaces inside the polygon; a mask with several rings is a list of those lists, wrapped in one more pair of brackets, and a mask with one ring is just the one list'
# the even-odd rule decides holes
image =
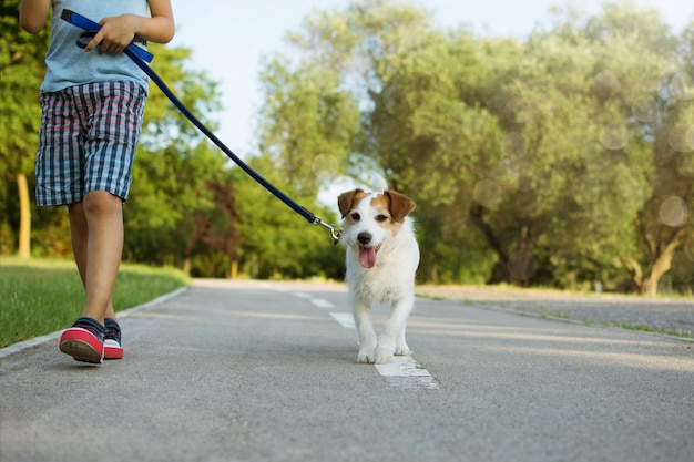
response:
{"label": "child in light blue top, plaid shorts and red-soled shoes", "polygon": [[[123,357],[111,295],[123,251],[123,203],[142,127],[149,80],[121,53],[135,34],[156,43],[174,34],[170,0],[22,0],[19,21],[37,33],[53,10],[41,84],[37,205],[68,205],[72,250],[85,290],[81,317],[60,338],[78,361]],[[60,19],[63,9],[100,22],[84,32]]]}

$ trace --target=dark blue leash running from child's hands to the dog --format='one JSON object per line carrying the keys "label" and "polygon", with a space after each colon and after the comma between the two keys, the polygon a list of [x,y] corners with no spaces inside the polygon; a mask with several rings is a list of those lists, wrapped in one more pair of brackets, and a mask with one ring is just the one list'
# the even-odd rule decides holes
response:
{"label": "dark blue leash running from child's hands to the dog", "polygon": [[[95,31],[101,29],[101,24],[92,21],[91,19],[84,18],[83,16],[75,13],[74,11],[63,10],[60,17],[72,25],[76,25],[78,28],[88,31],[80,35],[80,40],[78,40],[78,47],[80,48],[86,47],[86,43],[89,43],[91,38],[94,37]],[[139,38],[136,38],[136,40],[137,39]],[[139,40],[142,41],[142,39]],[[144,43],[144,41],[142,42]],[[133,62],[137,64],[137,66],[150,76],[150,79],[152,79],[156,86],[160,88],[160,90],[166,95],[166,97],[169,97],[169,100],[176,106],[176,109],[178,109],[178,111],[181,111],[181,113],[185,115],[186,119],[193,123],[193,125],[195,125],[201,132],[203,132],[205,136],[207,136],[220,150],[222,150],[222,152],[224,152],[224,154],[226,154],[232,161],[234,161],[236,165],[238,165],[244,172],[246,172],[246,174],[248,174],[253,179],[255,179],[258,184],[265,187],[265,189],[271,192],[279,201],[284,202],[294,212],[303,216],[308,223],[310,223],[312,225],[318,225],[327,228],[330,232],[330,236],[333,237],[335,244],[338,243],[340,232],[336,229],[334,225],[325,223],[317,215],[312,214],[306,207],[298,205],[282,191],[277,189],[272,183],[261,176],[256,171],[251,168],[236,154],[234,154],[232,150],[226,147],[226,145],[222,143],[222,141],[220,141],[220,138],[217,138],[214,133],[212,133],[200,120],[197,120],[195,115],[193,115],[187,110],[187,107],[185,107],[181,100],[178,100],[176,95],[169,89],[169,86],[166,86],[164,81],[152,70],[152,68],[150,68],[150,65],[147,65],[147,63],[152,62],[152,59],[154,58],[150,52],[137,47],[137,44],[135,44],[134,42],[129,44],[125,50],[123,50],[123,53],[125,53],[131,60],[133,60]]]}

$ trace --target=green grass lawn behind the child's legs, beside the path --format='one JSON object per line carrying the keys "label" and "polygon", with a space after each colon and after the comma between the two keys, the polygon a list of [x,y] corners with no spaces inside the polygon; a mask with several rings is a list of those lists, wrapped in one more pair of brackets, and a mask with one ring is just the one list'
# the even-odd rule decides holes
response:
{"label": "green grass lawn behind the child's legs, beside the path", "polygon": [[[177,269],[121,265],[116,311],[186,286]],[[82,311],[84,289],[72,261],[0,257],[0,348],[69,327]]]}

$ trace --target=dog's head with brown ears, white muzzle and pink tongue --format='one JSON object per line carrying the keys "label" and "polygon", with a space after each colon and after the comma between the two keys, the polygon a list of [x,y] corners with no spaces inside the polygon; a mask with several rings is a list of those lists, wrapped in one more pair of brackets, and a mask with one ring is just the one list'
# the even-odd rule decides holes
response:
{"label": "dog's head with brown ears, white muzzle and pink tongue", "polygon": [[372,268],[381,246],[395,238],[415,202],[395,191],[354,189],[340,194],[337,206],[343,215],[340,240],[358,253],[363,267]]}

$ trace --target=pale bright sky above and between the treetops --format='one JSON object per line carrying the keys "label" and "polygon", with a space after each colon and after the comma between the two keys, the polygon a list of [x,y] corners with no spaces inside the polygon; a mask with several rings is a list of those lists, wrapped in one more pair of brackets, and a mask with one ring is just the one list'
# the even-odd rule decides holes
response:
{"label": "pale bright sky above and between the treetops", "polygon": [[[176,35],[170,47],[193,51],[193,69],[216,81],[224,110],[215,117],[215,133],[235,154],[254,153],[256,113],[262,103],[258,72],[261,59],[286,52],[287,31],[298,31],[304,17],[315,9],[346,8],[349,0],[171,0]],[[460,24],[486,37],[527,38],[533,29],[551,25],[550,9],[571,6],[588,16],[602,10],[600,0],[410,0],[435,12],[441,29]],[[685,0],[633,0],[655,7],[678,33],[694,20],[694,3]],[[156,59],[152,63],[156,71]],[[162,75],[164,81],[165,75]]]}

